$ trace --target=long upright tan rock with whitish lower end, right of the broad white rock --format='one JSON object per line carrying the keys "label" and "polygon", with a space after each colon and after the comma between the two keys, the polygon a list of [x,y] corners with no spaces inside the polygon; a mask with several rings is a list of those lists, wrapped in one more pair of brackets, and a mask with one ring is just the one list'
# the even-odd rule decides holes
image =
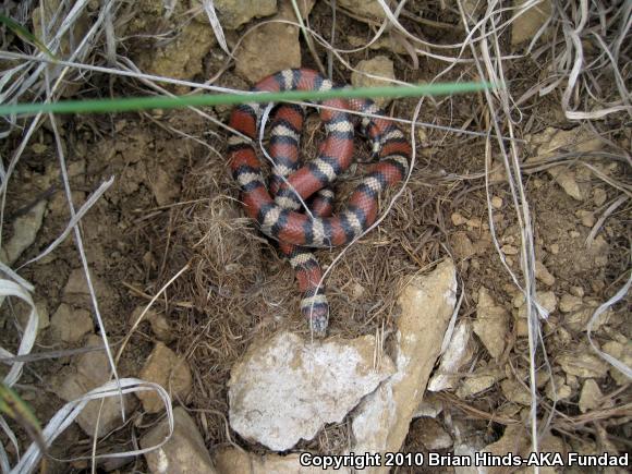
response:
{"label": "long upright tan rock with whitish lower end, right of the broad white rock", "polygon": [[[401,448],[439,355],[455,293],[455,268],[450,260],[404,288],[402,315],[397,320],[397,373],[356,410],[353,452],[397,452]],[[386,473],[388,467],[367,472]]]}

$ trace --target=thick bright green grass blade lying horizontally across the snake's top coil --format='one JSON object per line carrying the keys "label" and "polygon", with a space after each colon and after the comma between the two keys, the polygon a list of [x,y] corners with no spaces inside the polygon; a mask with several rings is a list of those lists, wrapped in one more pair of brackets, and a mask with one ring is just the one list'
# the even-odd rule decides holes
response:
{"label": "thick bright green grass blade lying horizontally across the snake's top coil", "polygon": [[227,106],[246,102],[278,102],[296,100],[327,100],[333,98],[420,97],[464,94],[486,88],[485,82],[423,84],[414,86],[360,87],[332,90],[285,90],[282,93],[203,94],[179,97],[124,97],[116,99],[62,100],[46,104],[14,104],[0,106],[0,116],[17,113],[110,113],[146,109],[175,109],[189,106]]}

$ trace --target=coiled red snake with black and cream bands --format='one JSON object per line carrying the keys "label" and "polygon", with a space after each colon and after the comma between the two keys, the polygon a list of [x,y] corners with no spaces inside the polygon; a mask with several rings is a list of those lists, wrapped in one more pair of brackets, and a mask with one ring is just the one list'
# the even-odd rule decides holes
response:
{"label": "coiled red snake with black and cream bands", "polygon": [[[253,92],[331,90],[332,81],[309,69],[288,69],[258,82]],[[375,222],[384,191],[402,181],[410,168],[411,145],[402,130],[370,99],[328,99],[315,104],[325,125],[318,154],[304,162],[300,138],[304,108],[282,104],[270,123],[268,178],[257,157],[257,141],[265,104],[235,106],[229,125],[229,163],[241,189],[246,215],[260,231],[276,240],[295,272],[302,292],[301,313],[311,329],[324,335],[329,305],[323,270],[311,248],[331,248],[353,242]],[[353,163],[356,129],[364,135],[377,162],[360,180],[345,204],[333,214],[333,184]]]}

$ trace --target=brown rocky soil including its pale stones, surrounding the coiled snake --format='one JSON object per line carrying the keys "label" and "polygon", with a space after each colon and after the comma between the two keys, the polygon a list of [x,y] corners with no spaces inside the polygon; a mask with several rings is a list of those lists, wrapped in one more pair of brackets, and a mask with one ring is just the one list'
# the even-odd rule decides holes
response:
{"label": "brown rocky soil including its pale stones, surrounding the coiled snake", "polygon": [[[461,40],[455,2],[410,3],[402,23],[415,35]],[[344,50],[338,54],[305,40],[288,0],[214,4],[223,38],[194,0],[133,2],[120,13],[126,21],[116,34],[147,74],[236,89],[288,68],[327,69],[328,61],[338,83],[355,86],[430,82],[445,66],[411,54],[410,40],[394,29],[360,48],[385,19],[375,1],[336,2],[336,47]],[[302,21],[331,40],[331,3],[299,5]],[[548,17],[544,9],[512,22],[507,51],[524,50]],[[41,14],[34,13],[33,23]],[[94,14],[86,10],[86,24]],[[526,56],[509,64],[516,95],[537,80],[530,73],[536,62]],[[459,65],[441,81],[478,78],[469,68]],[[142,81],[100,74],[74,86],[69,97],[149,90]],[[161,94],[192,92],[183,84],[160,87]],[[418,120],[487,132],[481,100],[425,100]],[[389,116],[405,119],[416,105],[380,102]],[[59,118],[74,206],[114,177],[80,229],[118,375],[159,384],[174,406],[169,441],[144,455],[98,459],[99,470],[320,472],[300,465],[304,451],[528,454],[532,313],[538,313],[545,349],[535,358],[540,451],[630,451],[630,377],[603,356],[632,367],[629,294],[595,316],[630,272],[625,117],[571,121],[559,97],[550,96],[524,105],[514,133],[536,260],[531,306],[511,277],[523,284],[524,228],[501,154],[481,136],[417,127],[411,180],[380,227],[333,267],[326,282],[329,335],[314,340],[288,263],[239,205],[226,161],[230,132],[217,124],[229,111]],[[315,155],[323,134],[309,116],[306,156]],[[3,161],[20,139],[14,132],[3,141]],[[358,163],[338,189],[342,199],[368,167],[368,149],[360,146],[356,154]],[[47,121],[11,178],[3,216],[2,262],[34,287],[39,327],[33,353],[48,354],[29,361],[14,388],[46,425],[64,402],[111,379],[72,232],[31,262],[70,220]],[[317,256],[328,267],[339,252]],[[23,301],[8,299],[0,347],[16,352],[29,312]],[[122,400],[88,403],[50,449],[53,458],[72,461],[47,459],[48,472],[89,469],[95,437],[99,453],[159,445],[170,432],[162,400],[153,391]],[[28,435],[15,429],[26,446]],[[15,447],[0,440],[16,460]]]}

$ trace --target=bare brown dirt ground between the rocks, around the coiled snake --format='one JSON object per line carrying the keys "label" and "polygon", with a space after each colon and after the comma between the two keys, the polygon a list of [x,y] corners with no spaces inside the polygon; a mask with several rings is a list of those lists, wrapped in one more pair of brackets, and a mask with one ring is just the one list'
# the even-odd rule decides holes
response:
{"label": "bare brown dirt ground between the rocks, around the coiled snake", "polygon": [[[318,2],[311,15],[312,26],[324,31],[330,20],[328,5]],[[337,21],[340,31],[349,36],[368,36],[368,27],[362,22],[348,15],[339,15]],[[458,22],[449,14],[440,21]],[[448,44],[460,35],[457,32],[446,35],[430,26],[415,25],[412,20],[403,23],[421,29],[430,41]],[[352,46],[344,35],[339,41],[339,47]],[[376,51],[364,50],[345,58],[355,64],[376,54]],[[399,80],[411,83],[433,81],[445,66],[437,60],[423,57],[418,68],[413,69],[405,54],[389,50],[380,50],[379,54],[393,61]],[[316,66],[303,40],[301,56],[304,66]],[[207,57],[205,70],[194,78],[206,80],[214,61],[211,54]],[[531,71],[536,66],[536,62],[525,58],[512,62],[505,71],[507,80],[516,85],[516,96],[520,96],[521,87],[526,90],[533,85]],[[441,80],[457,80],[462,74],[472,77],[473,71],[469,66],[454,68]],[[351,81],[351,72],[340,65],[333,69],[333,75],[339,83]],[[244,80],[230,69],[221,76],[220,83],[235,88],[246,86]],[[109,80],[95,75],[90,84],[82,86],[77,94],[84,97],[110,93],[124,95],[129,87],[126,78]],[[134,88],[138,87],[138,84],[134,85]],[[399,99],[388,107],[387,113],[410,118],[416,104],[416,99]],[[227,121],[226,108],[205,111]],[[451,126],[466,124],[467,130],[486,132],[489,116],[485,112],[483,95],[469,94],[425,100],[418,120]],[[558,166],[558,169],[574,173],[583,196],[579,200],[564,191],[555,173],[549,172],[550,168],[538,168],[530,159],[540,155],[536,138],[548,133],[549,129],[586,131],[586,136],[604,138],[600,149],[629,157],[630,127],[629,122],[625,125],[627,120],[629,117],[622,114],[610,116],[593,122],[596,130],[588,131],[564,118],[559,97],[535,96],[527,102],[525,117],[516,123],[514,133],[521,141],[518,143],[519,157],[533,220],[535,255],[555,280],[546,284],[538,279],[538,291],[552,292],[559,299],[581,289],[584,301],[600,303],[625,282],[631,236],[629,204],[607,216],[590,250],[585,241],[595,219],[619,196],[629,195],[629,162],[588,156]],[[276,245],[244,218],[239,205],[239,190],[227,162],[229,133],[190,110],[61,116],[59,126],[75,206],[81,206],[100,183],[114,177],[113,185],[85,215],[80,226],[92,275],[102,283],[99,305],[110,341],[116,347],[130,332],[133,312],[146,305],[178,271],[186,267],[154,304],[155,312],[165,315],[173,336],[169,347],[184,356],[192,369],[193,390],[180,402],[194,415],[209,449],[232,440],[250,450],[265,452],[265,448],[241,439],[228,426],[227,380],[230,369],[252,341],[268,338],[281,328],[291,328],[303,335],[308,335],[308,329],[300,316],[301,295],[291,268]],[[312,116],[306,126],[302,150],[304,156],[313,157],[324,136],[323,125]],[[515,373],[523,373],[528,367],[528,345],[524,324],[515,315],[518,290],[499,258],[489,230],[484,179],[485,138],[424,126],[420,126],[416,133],[416,163],[402,196],[379,228],[345,253],[326,281],[331,305],[329,336],[350,339],[375,333],[381,328],[392,333],[399,311],[397,297],[401,279],[425,272],[437,262],[451,257],[457,264],[464,293],[459,318],[475,319],[481,287],[489,290],[496,303],[512,314],[503,354],[495,360],[478,343],[470,368],[506,370],[511,366]],[[15,131],[2,141],[0,147],[4,161],[12,156],[21,137],[20,131]],[[495,145],[493,148],[489,193],[495,203],[495,231],[508,257],[509,268],[520,274],[520,221],[505,178],[501,156]],[[368,167],[367,147],[358,146],[356,154],[358,165],[337,187],[341,203]],[[591,163],[600,173],[582,163]],[[624,191],[611,185],[612,182],[621,183]],[[393,194],[384,197],[382,209]],[[31,139],[9,184],[4,222],[14,221],[41,199],[47,203],[41,228],[33,245],[14,267],[39,255],[63,231],[69,220],[54,137],[47,121]],[[11,226],[5,226],[3,241],[11,238]],[[339,248],[323,250],[316,255],[327,268],[339,252]],[[71,272],[77,268],[81,268],[81,260],[71,234],[53,253],[24,266],[20,274],[34,284],[36,301],[52,315],[64,302],[64,288]],[[92,311],[89,301],[85,299],[73,301],[73,305]],[[600,343],[619,338],[617,340],[630,344],[629,308],[629,300],[613,306],[607,324],[596,331]],[[20,313],[20,305],[14,305],[13,309]],[[555,367],[554,373],[562,377],[564,373],[556,365],[556,360],[579,345],[587,344],[585,330],[569,325],[564,317],[556,308],[549,320],[543,324],[548,360]],[[14,351],[19,339],[11,318],[7,311],[0,317],[0,345]],[[149,325],[143,323],[126,344],[119,363],[119,375],[138,376],[155,340]],[[54,335],[42,330],[34,352],[81,347],[82,342],[60,343]],[[17,388],[39,420],[50,418],[63,404],[56,394],[54,385],[72,364],[73,356],[68,355],[28,363]],[[544,361],[538,358],[537,364],[544,364]],[[627,385],[621,385],[611,375],[596,377],[596,381],[604,397],[610,397],[610,405],[605,404],[604,410],[630,403]],[[572,394],[557,403],[559,415],[552,422],[554,433],[563,437],[569,446],[571,441],[595,445],[608,439],[620,452],[630,451],[632,433],[628,420],[631,413],[582,423],[583,412],[578,405],[581,384],[576,377],[575,385],[570,384],[570,387]],[[499,439],[506,426],[494,421],[495,415],[499,420],[521,422],[526,412],[524,405],[508,400],[500,382],[471,398],[459,399],[452,391],[440,397],[443,397],[451,416],[465,417],[473,430],[481,433],[488,442]],[[549,409],[550,400],[543,398],[540,414],[544,416]],[[130,449],[132,433],[144,433],[155,418],[155,415],[144,414],[142,409],[137,409],[122,429],[99,441],[98,449]],[[297,448],[340,452],[344,449],[348,429],[345,423],[328,426],[313,441],[303,442]],[[424,425],[414,421],[402,450],[427,450],[424,430]],[[25,436],[20,428],[17,433]],[[92,439],[73,425],[56,441],[51,454],[70,459],[89,455],[90,450]],[[87,461],[50,462],[54,472],[81,472],[87,465]],[[120,472],[146,470],[142,457],[123,465],[100,466],[114,467]]]}

